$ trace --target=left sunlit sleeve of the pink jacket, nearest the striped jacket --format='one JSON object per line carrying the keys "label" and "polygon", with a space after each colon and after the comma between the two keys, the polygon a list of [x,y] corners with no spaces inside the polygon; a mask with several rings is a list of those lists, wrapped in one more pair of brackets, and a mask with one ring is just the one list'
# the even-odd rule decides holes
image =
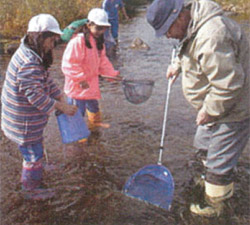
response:
{"label": "left sunlit sleeve of the pink jacket, nearest the striped jacket", "polygon": [[85,80],[83,70],[84,47],[84,38],[79,35],[69,41],[63,53],[62,72],[74,81]]}

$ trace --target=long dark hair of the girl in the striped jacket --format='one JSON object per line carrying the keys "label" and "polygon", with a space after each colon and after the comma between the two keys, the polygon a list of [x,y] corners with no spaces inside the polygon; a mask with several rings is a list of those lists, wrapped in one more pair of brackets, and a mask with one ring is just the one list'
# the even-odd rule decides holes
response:
{"label": "long dark hair of the girl in the striped jacket", "polygon": [[45,53],[43,44],[46,38],[54,36],[52,32],[28,32],[24,43],[42,58],[42,64],[47,70],[53,63],[52,50]]}

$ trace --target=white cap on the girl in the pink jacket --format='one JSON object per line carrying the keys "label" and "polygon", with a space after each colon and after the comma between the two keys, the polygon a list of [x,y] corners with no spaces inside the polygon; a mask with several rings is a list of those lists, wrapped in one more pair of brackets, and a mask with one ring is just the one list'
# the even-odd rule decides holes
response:
{"label": "white cap on the girl in the pink jacket", "polygon": [[94,22],[98,26],[111,26],[108,21],[108,15],[104,9],[91,9],[88,14],[88,20]]}

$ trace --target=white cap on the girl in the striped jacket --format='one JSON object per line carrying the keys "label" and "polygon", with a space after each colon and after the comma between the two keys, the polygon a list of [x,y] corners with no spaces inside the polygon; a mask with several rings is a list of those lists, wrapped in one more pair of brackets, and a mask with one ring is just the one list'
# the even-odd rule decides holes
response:
{"label": "white cap on the girl in the striped jacket", "polygon": [[60,35],[63,34],[60,30],[59,23],[55,17],[50,14],[39,14],[30,19],[27,32],[45,31],[50,31]]}

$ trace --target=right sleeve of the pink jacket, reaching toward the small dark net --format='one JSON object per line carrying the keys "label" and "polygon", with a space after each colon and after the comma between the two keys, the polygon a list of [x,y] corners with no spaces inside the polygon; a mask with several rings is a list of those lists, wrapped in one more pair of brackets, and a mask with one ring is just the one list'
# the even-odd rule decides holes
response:
{"label": "right sleeve of the pink jacket, reaching toward the small dark net", "polygon": [[105,47],[101,53],[101,63],[99,67],[99,73],[109,77],[115,77],[120,74],[120,71],[114,69],[113,65],[106,56]]}

